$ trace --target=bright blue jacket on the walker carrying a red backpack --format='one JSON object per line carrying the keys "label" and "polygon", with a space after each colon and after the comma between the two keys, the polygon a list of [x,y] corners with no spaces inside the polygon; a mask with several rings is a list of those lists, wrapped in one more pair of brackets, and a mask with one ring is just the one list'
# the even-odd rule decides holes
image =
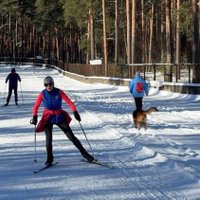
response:
{"label": "bright blue jacket on the walker carrying a red backpack", "polygon": [[[137,92],[137,90],[136,90],[136,83],[137,82],[142,83],[143,88],[144,88],[142,92]],[[136,74],[135,78],[133,78],[132,81],[130,82],[129,90],[130,90],[130,93],[133,95],[133,97],[143,97],[144,93],[146,93],[146,95],[148,95],[148,92],[149,92],[147,83],[138,74]]]}

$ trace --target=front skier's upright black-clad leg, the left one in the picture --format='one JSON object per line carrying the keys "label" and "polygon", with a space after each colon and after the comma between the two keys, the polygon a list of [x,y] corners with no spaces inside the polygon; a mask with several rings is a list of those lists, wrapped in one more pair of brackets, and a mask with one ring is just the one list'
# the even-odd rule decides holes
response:
{"label": "front skier's upright black-clad leg, the left one in the picture", "polygon": [[45,162],[46,165],[51,165],[53,162],[52,130],[53,130],[53,124],[48,123],[44,129],[46,136],[46,152],[47,152],[47,160]]}

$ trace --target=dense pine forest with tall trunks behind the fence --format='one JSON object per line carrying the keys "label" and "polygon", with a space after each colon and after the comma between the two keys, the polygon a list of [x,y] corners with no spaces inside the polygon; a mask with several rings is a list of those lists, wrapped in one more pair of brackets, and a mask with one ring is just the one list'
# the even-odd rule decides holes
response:
{"label": "dense pine forest with tall trunks behind the fence", "polygon": [[1,0],[0,11],[0,57],[102,59],[105,75],[108,64],[193,63],[200,82],[199,0]]}

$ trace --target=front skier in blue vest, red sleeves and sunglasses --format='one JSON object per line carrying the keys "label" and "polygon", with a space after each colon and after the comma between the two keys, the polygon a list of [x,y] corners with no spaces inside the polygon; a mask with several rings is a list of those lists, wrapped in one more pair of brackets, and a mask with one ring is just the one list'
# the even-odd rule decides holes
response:
{"label": "front skier in blue vest, red sleeves and sunglasses", "polygon": [[47,160],[45,164],[51,165],[54,159],[52,150],[53,124],[56,124],[65,133],[65,135],[79,149],[84,158],[86,158],[89,162],[93,162],[94,158],[84,149],[80,141],[74,136],[69,126],[71,117],[66,111],[62,109],[62,100],[64,100],[73,111],[76,120],[81,121],[81,117],[77,112],[74,103],[62,90],[54,87],[54,80],[52,77],[47,76],[44,79],[44,86],[45,89],[40,92],[33,107],[33,118],[31,120],[31,124],[37,124],[37,112],[41,102],[43,102],[44,111],[42,119],[36,127],[36,132],[44,131],[46,135]]}

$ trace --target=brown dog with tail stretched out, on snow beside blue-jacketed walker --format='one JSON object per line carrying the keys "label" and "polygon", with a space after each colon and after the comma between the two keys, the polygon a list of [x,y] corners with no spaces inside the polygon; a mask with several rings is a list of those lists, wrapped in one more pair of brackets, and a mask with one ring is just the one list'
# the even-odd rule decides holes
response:
{"label": "brown dog with tail stretched out, on snow beside blue-jacketed walker", "polygon": [[147,128],[147,115],[156,112],[158,109],[156,107],[151,107],[148,110],[135,110],[133,111],[133,121],[135,128],[141,129],[142,127]]}

